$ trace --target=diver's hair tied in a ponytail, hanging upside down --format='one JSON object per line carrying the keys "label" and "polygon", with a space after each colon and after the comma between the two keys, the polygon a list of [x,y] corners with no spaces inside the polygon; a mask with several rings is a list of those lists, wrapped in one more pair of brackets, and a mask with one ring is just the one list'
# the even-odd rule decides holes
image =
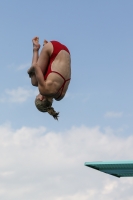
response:
{"label": "diver's hair tied in a ponytail, hanging upside down", "polygon": [[58,120],[59,112],[56,112],[52,106],[53,101],[49,101],[47,98],[43,99],[42,101],[40,99],[35,99],[35,105],[36,108],[40,112],[48,112],[50,115],[54,117],[54,119]]}

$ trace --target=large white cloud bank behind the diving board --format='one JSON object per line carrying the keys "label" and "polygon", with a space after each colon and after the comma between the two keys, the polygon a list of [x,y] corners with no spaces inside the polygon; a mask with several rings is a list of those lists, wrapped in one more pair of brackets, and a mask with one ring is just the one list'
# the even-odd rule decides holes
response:
{"label": "large white cloud bank behind the diving board", "polygon": [[0,197],[10,200],[132,199],[131,178],[115,178],[84,166],[96,160],[132,159],[133,136],[108,128],[0,126]]}

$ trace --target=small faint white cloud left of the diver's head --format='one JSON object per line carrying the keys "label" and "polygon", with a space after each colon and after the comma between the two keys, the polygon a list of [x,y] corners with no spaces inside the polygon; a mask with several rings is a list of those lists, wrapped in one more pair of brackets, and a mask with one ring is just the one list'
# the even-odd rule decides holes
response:
{"label": "small faint white cloud left of the diver's head", "polygon": [[37,88],[34,90],[25,89],[23,87],[18,87],[16,89],[6,89],[5,94],[0,97],[1,103],[12,102],[12,103],[23,103],[28,100],[28,98],[36,96],[38,94]]}

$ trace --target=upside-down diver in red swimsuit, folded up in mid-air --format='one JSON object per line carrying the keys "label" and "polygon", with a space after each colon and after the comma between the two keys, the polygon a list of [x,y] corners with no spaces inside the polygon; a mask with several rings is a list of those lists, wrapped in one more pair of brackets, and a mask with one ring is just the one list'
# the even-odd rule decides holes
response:
{"label": "upside-down diver in red swimsuit, folded up in mid-air", "polygon": [[39,94],[35,105],[41,112],[48,112],[55,119],[59,113],[52,107],[53,99],[60,101],[66,94],[71,79],[71,57],[68,48],[58,41],[44,40],[39,55],[39,38],[33,40],[32,66],[28,70],[33,86]]}

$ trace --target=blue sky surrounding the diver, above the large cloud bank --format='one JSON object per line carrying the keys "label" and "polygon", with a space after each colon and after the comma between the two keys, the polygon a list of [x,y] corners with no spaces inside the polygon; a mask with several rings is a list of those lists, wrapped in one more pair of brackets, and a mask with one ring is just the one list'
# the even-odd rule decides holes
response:
{"label": "blue sky surrounding the diver, above the large cloud bank", "polygon": [[[40,37],[40,43],[45,38],[61,41],[68,46],[72,57],[69,98],[54,103],[60,111],[59,123],[38,113],[32,104],[33,97],[23,104],[9,103],[8,109],[2,106],[2,123],[10,119],[14,127],[44,123],[58,130],[80,124],[104,126],[111,123],[115,127],[125,124],[129,128],[126,133],[131,133],[131,1],[38,1],[37,5],[35,1],[5,1],[0,4],[1,95],[5,89],[34,89],[26,71],[32,58],[31,39],[35,35]],[[27,67],[18,70],[21,65]],[[21,116],[30,120],[18,117],[18,109]],[[116,119],[104,119],[104,114],[112,111],[123,112],[117,123]]]}

